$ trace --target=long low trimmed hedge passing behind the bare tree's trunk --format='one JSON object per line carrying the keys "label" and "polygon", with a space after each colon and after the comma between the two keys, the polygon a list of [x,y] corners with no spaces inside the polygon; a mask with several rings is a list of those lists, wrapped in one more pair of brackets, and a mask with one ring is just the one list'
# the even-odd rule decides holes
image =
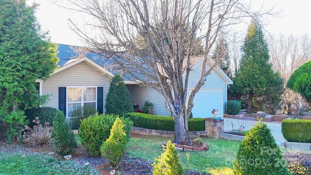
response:
{"label": "long low trimmed hedge passing behind the bare tree's trunk", "polygon": [[[174,131],[173,117],[168,116],[157,116],[142,114],[137,112],[124,114],[125,118],[129,118],[133,121],[136,127],[142,127],[147,129]],[[204,131],[205,130],[205,119],[193,118],[189,119],[188,123],[189,131]]]}

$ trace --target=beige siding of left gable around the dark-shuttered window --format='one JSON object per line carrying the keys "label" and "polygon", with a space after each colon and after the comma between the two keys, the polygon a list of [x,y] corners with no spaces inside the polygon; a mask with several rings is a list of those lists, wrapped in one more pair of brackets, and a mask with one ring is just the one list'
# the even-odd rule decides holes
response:
{"label": "beige siding of left gable around the dark-shuttered window", "polygon": [[[85,62],[78,63],[68,69],[51,75],[46,82],[42,83],[42,94],[50,94],[50,102],[46,106],[58,109],[58,87],[67,86],[96,86],[104,87],[104,99],[109,90],[110,81],[108,76],[95,70]],[[105,100],[104,100],[105,106]],[[66,107],[67,108],[67,107]],[[105,112],[105,108],[104,111]]]}

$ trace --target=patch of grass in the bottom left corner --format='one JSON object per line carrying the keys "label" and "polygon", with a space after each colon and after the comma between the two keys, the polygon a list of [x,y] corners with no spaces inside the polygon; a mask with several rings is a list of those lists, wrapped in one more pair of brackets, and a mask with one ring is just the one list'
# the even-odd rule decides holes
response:
{"label": "patch of grass in the bottom left corner", "polygon": [[0,175],[99,175],[88,166],[77,166],[39,153],[17,154],[0,152]]}

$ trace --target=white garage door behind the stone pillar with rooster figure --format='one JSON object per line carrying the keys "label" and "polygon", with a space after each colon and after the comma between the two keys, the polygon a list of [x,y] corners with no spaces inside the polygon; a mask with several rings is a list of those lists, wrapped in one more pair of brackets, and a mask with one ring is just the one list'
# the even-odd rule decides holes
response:
{"label": "white garage door behind the stone pillar with rooster figure", "polygon": [[[192,115],[193,118],[212,117],[212,110],[218,109],[217,117],[221,117],[223,110],[221,89],[200,89],[193,100]],[[190,90],[188,90],[188,94]]]}

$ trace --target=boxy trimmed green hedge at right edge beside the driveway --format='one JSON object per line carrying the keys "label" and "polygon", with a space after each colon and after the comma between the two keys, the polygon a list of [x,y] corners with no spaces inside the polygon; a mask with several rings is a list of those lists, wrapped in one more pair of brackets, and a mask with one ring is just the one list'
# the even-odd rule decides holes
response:
{"label": "boxy trimmed green hedge at right edge beside the driveway", "polygon": [[283,120],[281,127],[286,140],[311,143],[311,120]]}

